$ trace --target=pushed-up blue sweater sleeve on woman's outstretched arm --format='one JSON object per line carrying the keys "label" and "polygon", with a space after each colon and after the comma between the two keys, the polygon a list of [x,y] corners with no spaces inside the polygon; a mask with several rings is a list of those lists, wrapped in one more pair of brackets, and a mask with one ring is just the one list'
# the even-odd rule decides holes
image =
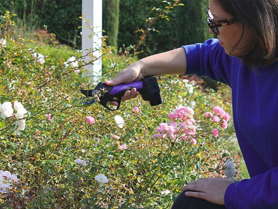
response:
{"label": "pushed-up blue sweater sleeve on woman's outstretched arm", "polygon": [[186,53],[186,75],[208,77],[231,87],[231,57],[225,53],[217,39],[182,47]]}

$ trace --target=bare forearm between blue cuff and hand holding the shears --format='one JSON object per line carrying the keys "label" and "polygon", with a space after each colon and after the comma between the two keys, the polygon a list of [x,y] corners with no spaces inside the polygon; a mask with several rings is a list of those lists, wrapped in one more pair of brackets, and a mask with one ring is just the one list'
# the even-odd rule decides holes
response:
{"label": "bare forearm between blue cuff and hand holding the shears", "polygon": [[160,76],[186,72],[186,55],[183,48],[145,57],[138,61],[141,65],[141,73],[146,76]]}

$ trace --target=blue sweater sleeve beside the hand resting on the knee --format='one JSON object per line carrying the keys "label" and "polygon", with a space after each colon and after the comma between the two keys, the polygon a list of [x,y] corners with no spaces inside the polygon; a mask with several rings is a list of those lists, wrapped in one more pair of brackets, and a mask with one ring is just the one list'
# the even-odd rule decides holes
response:
{"label": "blue sweater sleeve beside the hand resting on the knee", "polygon": [[230,184],[224,201],[227,209],[278,208],[278,168]]}

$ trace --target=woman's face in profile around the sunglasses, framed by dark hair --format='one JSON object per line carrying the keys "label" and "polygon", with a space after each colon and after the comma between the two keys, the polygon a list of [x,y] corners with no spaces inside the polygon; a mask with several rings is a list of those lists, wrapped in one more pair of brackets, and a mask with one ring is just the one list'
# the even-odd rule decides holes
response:
{"label": "woman's face in profile around the sunglasses, framed by dark hair", "polygon": [[[221,7],[217,4],[217,2],[213,0],[209,0],[210,4],[210,11],[214,16],[213,21],[219,21],[223,19],[227,19],[232,17],[231,15],[225,13]],[[231,52],[233,46],[239,42],[243,32],[243,25],[240,21],[237,21],[231,25],[226,25],[222,27],[218,27],[218,35],[217,39],[219,40],[219,45],[225,49],[226,54],[231,56],[236,56],[241,54],[245,51],[245,47],[252,41],[252,34],[251,32],[245,27],[245,31],[240,41],[239,45]],[[213,31],[210,29],[210,33],[213,34]]]}

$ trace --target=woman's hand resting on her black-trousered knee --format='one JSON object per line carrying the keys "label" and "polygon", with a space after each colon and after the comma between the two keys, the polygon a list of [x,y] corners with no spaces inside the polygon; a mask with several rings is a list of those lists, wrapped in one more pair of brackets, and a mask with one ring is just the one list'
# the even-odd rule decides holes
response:
{"label": "woman's hand resting on her black-trousered knee", "polygon": [[222,178],[201,178],[182,187],[186,196],[205,199],[209,202],[225,205],[224,195],[227,187],[234,183]]}

